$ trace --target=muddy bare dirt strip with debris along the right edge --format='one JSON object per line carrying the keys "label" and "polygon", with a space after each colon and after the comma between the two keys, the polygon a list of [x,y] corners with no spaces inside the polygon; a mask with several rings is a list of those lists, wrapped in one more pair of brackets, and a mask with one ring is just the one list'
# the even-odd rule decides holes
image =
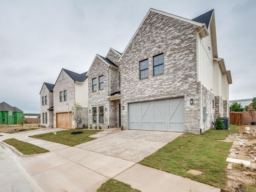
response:
{"label": "muddy bare dirt strip with debris along the right edge", "polygon": [[[250,127],[246,132],[245,127]],[[242,186],[253,186],[256,179],[256,126],[243,126],[239,128],[240,133],[230,132],[228,137],[223,140],[233,142],[230,149],[230,158],[243,159],[251,162],[251,166],[243,164],[229,163],[227,167],[228,181],[223,192],[240,192]]]}

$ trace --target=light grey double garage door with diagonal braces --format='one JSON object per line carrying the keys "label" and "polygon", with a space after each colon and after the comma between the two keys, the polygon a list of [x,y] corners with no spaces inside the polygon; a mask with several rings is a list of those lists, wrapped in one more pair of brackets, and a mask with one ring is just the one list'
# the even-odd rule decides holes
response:
{"label": "light grey double garage door with diagonal braces", "polygon": [[129,103],[129,129],[184,132],[184,97]]}

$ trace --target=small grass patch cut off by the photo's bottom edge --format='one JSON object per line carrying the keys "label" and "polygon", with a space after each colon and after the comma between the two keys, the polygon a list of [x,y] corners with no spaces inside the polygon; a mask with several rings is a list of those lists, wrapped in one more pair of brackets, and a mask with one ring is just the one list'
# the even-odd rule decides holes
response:
{"label": "small grass patch cut off by the photo's bottom edge", "polygon": [[131,188],[130,185],[127,185],[121,181],[109,179],[103,183],[97,192],[141,192],[140,190]]}

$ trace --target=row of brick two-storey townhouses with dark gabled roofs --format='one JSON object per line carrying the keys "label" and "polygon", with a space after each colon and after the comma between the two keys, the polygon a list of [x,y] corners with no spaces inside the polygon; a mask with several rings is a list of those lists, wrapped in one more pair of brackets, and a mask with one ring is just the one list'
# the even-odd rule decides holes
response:
{"label": "row of brick two-storey townhouses with dark gabled roofs", "polygon": [[[41,119],[67,127],[60,99],[67,97],[69,106],[76,100],[84,107],[84,123],[199,133],[219,114],[229,116],[229,84],[214,10],[189,20],[150,9],[123,53],[110,48],[105,57],[96,54],[87,73],[62,69],[55,85],[44,83]],[[51,98],[47,107],[44,95]]]}

